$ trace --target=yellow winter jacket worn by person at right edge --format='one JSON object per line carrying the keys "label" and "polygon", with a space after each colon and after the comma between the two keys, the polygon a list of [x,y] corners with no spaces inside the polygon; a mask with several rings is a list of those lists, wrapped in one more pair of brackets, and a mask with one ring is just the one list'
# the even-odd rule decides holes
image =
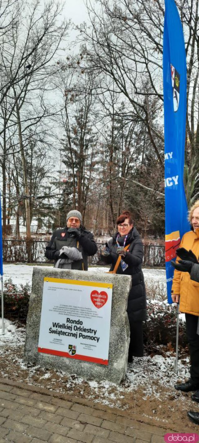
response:
{"label": "yellow winter jacket worn by person at right edge", "polygon": [[[185,248],[199,259],[199,228],[186,232],[182,237],[180,248]],[[180,260],[178,257],[176,261]],[[172,283],[172,293],[180,295],[180,311],[199,316],[199,283],[190,279],[189,272],[175,269]]]}

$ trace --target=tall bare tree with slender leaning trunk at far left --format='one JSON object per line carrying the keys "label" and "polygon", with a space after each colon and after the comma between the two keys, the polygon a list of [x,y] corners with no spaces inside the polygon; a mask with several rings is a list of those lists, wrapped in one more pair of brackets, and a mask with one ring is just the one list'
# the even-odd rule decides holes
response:
{"label": "tall bare tree with slender leaning trunk at far left", "polygon": [[[15,17],[15,2],[12,6],[12,15]],[[0,63],[3,66],[0,100],[7,97],[10,104],[6,122],[0,132],[5,131],[5,124],[9,129],[14,126],[18,129],[26,197],[27,238],[31,237],[31,214],[23,134],[27,128],[49,117],[52,112],[46,106],[45,99],[48,99],[48,86],[55,71],[54,57],[69,27],[65,21],[60,23],[60,13],[60,4],[52,0],[44,4],[43,8],[39,0],[30,4],[27,1],[25,5],[24,2],[17,2],[17,20],[12,20],[9,40],[3,38],[0,44]]]}

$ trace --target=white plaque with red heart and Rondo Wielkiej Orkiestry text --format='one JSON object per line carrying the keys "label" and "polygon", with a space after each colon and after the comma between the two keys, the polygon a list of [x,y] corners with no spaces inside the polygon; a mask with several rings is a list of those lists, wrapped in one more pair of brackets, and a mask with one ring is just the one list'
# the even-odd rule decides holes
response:
{"label": "white plaque with red heart and Rondo Wielkiej Orkiestry text", "polygon": [[45,277],[38,352],[108,365],[112,287]]}

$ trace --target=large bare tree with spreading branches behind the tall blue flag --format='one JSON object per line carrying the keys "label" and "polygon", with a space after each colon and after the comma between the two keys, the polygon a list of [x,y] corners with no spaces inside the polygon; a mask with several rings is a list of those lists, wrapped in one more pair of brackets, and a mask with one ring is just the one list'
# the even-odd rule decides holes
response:
{"label": "large bare tree with spreading branches behind the tall blue flag", "polygon": [[[188,204],[199,195],[199,2],[176,1],[187,54],[185,188]],[[96,77],[112,79],[147,131],[163,176],[163,0],[87,1],[90,24],[79,27],[82,52]],[[106,83],[104,82],[104,91]],[[112,88],[110,88],[112,91]],[[116,89],[115,89],[116,92]],[[156,99],[153,101],[153,97]],[[155,108],[151,107],[151,103]]]}

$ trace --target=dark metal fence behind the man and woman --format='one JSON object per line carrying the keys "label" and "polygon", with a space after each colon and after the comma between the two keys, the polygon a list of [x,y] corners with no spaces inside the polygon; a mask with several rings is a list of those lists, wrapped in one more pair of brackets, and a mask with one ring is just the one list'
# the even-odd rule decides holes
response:
{"label": "dark metal fence behind the man and woman", "polygon": [[[3,240],[4,263],[50,263],[45,257],[47,241]],[[97,253],[88,257],[88,263],[102,265],[101,249],[104,243],[97,243]],[[165,247],[160,245],[144,245],[145,266],[165,266]]]}

